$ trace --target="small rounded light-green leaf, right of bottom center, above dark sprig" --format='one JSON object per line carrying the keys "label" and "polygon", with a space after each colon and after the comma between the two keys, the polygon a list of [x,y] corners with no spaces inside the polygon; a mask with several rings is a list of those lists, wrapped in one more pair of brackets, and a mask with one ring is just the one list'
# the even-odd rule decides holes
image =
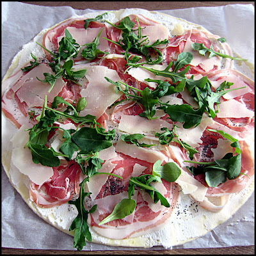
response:
{"label": "small rounded light-green leaf, right of bottom center, above dark sprig", "polygon": [[153,165],[152,174],[168,182],[175,182],[179,178],[180,173],[180,168],[175,163],[166,163],[161,166],[161,161],[157,160]]}

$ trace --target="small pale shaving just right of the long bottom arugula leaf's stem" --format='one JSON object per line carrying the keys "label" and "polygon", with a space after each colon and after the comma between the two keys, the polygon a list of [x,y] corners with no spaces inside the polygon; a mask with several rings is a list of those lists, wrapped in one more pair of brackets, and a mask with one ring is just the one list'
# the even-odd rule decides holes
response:
{"label": "small pale shaving just right of the long bottom arugula leaf's stem", "polygon": [[[98,172],[111,173],[113,172],[115,166],[116,164],[111,163],[111,161],[106,161],[104,164],[102,164],[101,168],[98,169]],[[93,177],[90,177],[88,182],[86,182],[88,186],[88,190],[92,193],[90,195],[92,200],[94,200],[96,196],[100,193],[100,190],[108,180],[108,177],[109,175],[107,174],[94,175]]]}

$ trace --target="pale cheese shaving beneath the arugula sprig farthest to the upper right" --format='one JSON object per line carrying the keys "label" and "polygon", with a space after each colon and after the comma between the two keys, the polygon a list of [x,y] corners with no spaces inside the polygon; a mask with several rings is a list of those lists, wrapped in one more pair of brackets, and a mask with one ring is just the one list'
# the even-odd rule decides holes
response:
{"label": "pale cheese shaving beneath the arugula sprig farthest to the upper right", "polygon": [[211,58],[208,58],[207,54],[203,56],[198,51],[195,51],[191,47],[191,44],[193,43],[188,38],[183,50],[184,52],[191,52],[193,54],[193,60],[191,61],[191,63],[189,63],[189,65],[192,65],[195,67],[200,65],[200,67],[203,68],[206,72],[208,72],[209,70],[212,70],[214,66],[217,66],[218,68],[221,67],[221,58],[219,56],[213,56]]}

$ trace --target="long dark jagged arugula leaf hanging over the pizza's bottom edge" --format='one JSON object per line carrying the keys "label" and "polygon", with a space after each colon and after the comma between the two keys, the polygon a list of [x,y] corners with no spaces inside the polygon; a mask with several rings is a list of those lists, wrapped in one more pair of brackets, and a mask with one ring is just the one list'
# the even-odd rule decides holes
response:
{"label": "long dark jagged arugula leaf hanging over the pizza's bottom edge", "polygon": [[93,207],[90,209],[90,211],[86,211],[84,208],[84,198],[86,196],[92,194],[92,193],[86,193],[84,192],[84,183],[88,181],[89,178],[86,177],[86,179],[81,182],[79,185],[80,188],[80,193],[79,193],[79,198],[77,200],[72,201],[69,200],[68,204],[73,204],[76,206],[78,214],[72,224],[70,225],[69,230],[75,230],[75,235],[74,235],[74,248],[77,248],[81,252],[83,250],[83,246],[86,245],[85,239],[88,241],[92,241],[92,235],[90,233],[87,220],[88,220],[88,214],[93,213],[97,209],[97,204],[93,205]]}

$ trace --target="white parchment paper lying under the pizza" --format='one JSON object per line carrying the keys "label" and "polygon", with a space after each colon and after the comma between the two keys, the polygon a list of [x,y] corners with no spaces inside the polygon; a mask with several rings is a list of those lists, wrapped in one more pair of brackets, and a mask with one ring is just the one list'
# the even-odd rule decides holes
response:
{"label": "white parchment paper lying under the pizza", "polygon": [[[33,2],[31,2],[33,3]],[[42,29],[49,28],[74,14],[95,10],[74,10],[70,7],[34,6],[18,2],[2,2],[2,79],[13,57],[22,45]],[[254,8],[252,4],[189,8],[158,11],[204,26],[227,39],[243,58],[254,63]],[[3,132],[2,132],[3,136]],[[73,237],[39,218],[10,184],[2,166],[2,247],[76,250]],[[173,248],[213,248],[254,244],[254,193],[229,220],[204,237]],[[134,250],[86,243],[83,250]],[[141,248],[138,248],[141,249]],[[163,249],[161,246],[152,249]],[[170,248],[172,249],[172,248]],[[148,249],[150,250],[150,249]]]}

